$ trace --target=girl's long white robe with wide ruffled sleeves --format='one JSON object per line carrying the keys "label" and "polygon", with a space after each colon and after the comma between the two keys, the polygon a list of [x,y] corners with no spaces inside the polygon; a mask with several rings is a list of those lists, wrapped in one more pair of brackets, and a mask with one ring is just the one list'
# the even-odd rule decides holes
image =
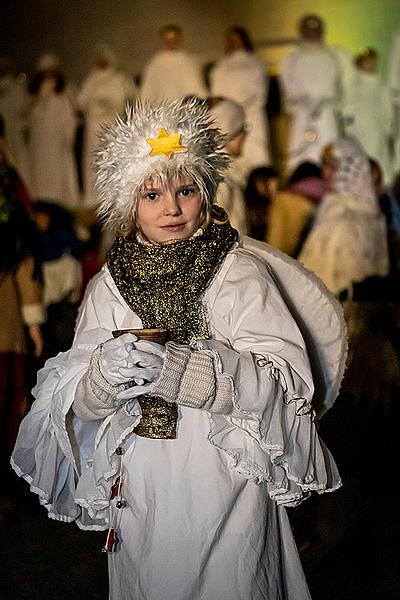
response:
{"label": "girl's long white robe with wide ruffled sleeves", "polygon": [[[122,474],[127,506],[112,509],[121,543],[109,555],[111,600],[310,600],[284,505],[340,479],[309,412],[303,338],[246,243],[228,253],[204,302],[213,339],[200,344],[215,345],[216,368],[231,377],[231,415],[180,406],[175,440],[132,434],[137,403],[100,422],[71,415],[92,351],[112,330],[141,326],[103,268],[72,350],[39,372],[13,467],[52,518],[87,529],[107,527]],[[324,318],[314,315],[318,326]]]}

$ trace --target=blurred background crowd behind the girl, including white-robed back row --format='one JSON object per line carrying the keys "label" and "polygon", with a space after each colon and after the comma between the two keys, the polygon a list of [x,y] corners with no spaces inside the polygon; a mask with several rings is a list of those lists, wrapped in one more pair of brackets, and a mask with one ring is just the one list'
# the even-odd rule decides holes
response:
{"label": "blurred background crowd behind the girl, including white-robed back row", "polygon": [[28,390],[44,361],[71,346],[86,283],[112,241],[96,218],[97,136],[136,98],[207,102],[232,159],[217,203],[242,235],[298,258],[340,298],[344,387],[390,410],[382,390],[400,384],[400,32],[387,81],[376,50],[353,57],[324,34],[317,15],[302,18],[278,79],[242,27],[229,28],[225,54],[202,66],[168,25],[138,77],[99,46],[80,87],[53,54],[28,81],[0,60],[0,510]]}

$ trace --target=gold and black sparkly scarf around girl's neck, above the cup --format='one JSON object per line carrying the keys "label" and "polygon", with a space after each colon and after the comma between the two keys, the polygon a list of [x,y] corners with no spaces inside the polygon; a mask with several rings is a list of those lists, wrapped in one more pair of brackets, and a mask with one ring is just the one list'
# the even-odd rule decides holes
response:
{"label": "gold and black sparkly scarf around girl's neck, above the cup", "polygon": [[203,235],[172,244],[118,237],[107,264],[143,327],[168,329],[180,343],[206,339],[210,333],[202,297],[237,239],[229,223],[210,223]]}

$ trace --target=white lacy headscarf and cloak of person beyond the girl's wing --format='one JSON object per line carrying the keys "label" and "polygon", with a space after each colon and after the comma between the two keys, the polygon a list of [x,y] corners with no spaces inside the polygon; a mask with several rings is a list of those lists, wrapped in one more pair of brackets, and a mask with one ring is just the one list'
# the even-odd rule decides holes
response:
{"label": "white lacy headscarf and cloak of person beyond the girl's wing", "polygon": [[299,260],[335,294],[367,277],[387,275],[386,222],[368,157],[356,140],[332,145],[332,191],[324,198]]}

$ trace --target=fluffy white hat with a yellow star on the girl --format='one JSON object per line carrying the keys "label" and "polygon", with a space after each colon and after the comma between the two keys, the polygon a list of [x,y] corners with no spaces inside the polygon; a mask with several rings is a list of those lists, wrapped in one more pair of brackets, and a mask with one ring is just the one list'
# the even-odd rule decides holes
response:
{"label": "fluffy white hat with a yellow star on the girl", "polygon": [[136,101],[124,118],[116,117],[100,134],[95,157],[100,219],[108,227],[129,230],[136,192],[154,176],[170,180],[189,175],[211,206],[229,165],[224,144],[209,109],[197,98],[165,104]]}

